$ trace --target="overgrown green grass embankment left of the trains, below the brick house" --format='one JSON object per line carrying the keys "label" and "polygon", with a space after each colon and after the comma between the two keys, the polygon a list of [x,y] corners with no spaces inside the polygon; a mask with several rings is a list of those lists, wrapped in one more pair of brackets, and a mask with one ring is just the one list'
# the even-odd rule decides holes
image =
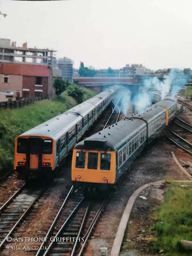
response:
{"label": "overgrown green grass embankment left of the trains, below the brick house", "polygon": [[[95,94],[91,90],[84,90],[85,99]],[[14,143],[18,135],[76,104],[76,101],[65,91],[55,100],[41,100],[18,109],[0,109],[0,173],[13,168]]]}

